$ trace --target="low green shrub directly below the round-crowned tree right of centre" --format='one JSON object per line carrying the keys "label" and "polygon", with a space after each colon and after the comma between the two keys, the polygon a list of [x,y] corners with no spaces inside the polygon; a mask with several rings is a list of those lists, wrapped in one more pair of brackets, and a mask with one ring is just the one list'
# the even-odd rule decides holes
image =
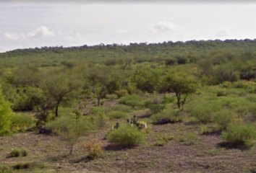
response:
{"label": "low green shrub directly below the round-crowned tree right of centre", "polygon": [[180,110],[174,110],[173,108],[167,108],[157,114],[153,114],[150,118],[154,123],[178,123],[182,122],[183,112]]}

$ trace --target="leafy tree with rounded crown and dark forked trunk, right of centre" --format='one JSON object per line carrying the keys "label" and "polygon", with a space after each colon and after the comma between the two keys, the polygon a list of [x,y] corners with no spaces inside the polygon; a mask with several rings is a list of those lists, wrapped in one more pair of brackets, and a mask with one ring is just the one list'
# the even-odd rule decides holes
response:
{"label": "leafy tree with rounded crown and dark forked trunk, right of centre", "polygon": [[180,110],[184,110],[184,104],[189,94],[195,93],[198,88],[198,82],[195,76],[184,73],[167,73],[161,79],[161,86],[174,92],[177,99],[177,105]]}

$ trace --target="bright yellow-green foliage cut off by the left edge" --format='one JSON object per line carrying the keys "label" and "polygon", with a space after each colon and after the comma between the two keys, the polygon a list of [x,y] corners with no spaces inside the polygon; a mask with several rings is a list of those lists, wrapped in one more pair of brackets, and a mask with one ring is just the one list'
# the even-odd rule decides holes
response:
{"label": "bright yellow-green foliage cut off by the left edge", "polygon": [[0,136],[9,133],[12,114],[10,104],[4,99],[0,86]]}

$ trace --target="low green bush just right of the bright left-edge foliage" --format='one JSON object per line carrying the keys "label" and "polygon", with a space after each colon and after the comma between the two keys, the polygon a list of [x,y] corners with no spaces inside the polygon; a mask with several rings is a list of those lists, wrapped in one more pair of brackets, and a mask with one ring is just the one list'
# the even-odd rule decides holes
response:
{"label": "low green bush just right of the bright left-edge foliage", "polygon": [[35,125],[35,120],[32,115],[27,113],[16,113],[11,117],[11,130],[12,132],[24,132],[28,128],[33,128]]}

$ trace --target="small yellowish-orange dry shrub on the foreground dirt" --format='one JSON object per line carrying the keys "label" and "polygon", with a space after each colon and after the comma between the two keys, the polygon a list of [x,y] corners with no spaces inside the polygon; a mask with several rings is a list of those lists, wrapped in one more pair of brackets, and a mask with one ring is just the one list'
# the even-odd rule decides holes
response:
{"label": "small yellowish-orange dry shrub on the foreground dirt", "polygon": [[103,152],[102,146],[103,144],[97,139],[92,139],[90,141],[82,142],[82,147],[89,152],[88,157],[92,159],[95,159],[98,156],[101,156]]}

